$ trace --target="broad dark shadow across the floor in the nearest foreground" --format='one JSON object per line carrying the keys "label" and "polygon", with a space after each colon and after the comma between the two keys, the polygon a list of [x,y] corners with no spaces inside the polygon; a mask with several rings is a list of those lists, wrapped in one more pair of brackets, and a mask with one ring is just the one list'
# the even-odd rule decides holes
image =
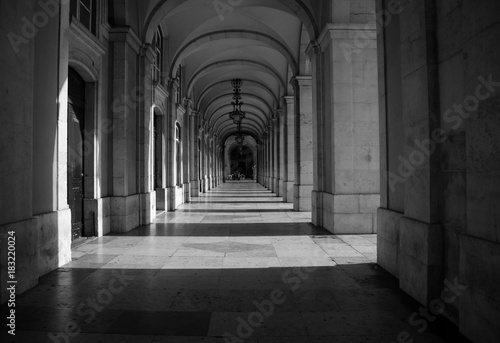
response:
{"label": "broad dark shadow across the floor in the nearest foreground", "polygon": [[[18,297],[17,340],[3,337],[2,342],[66,342],[68,325],[70,332],[79,332],[71,342],[97,337],[108,342],[117,339],[114,335],[180,336],[193,342],[210,336],[223,342],[225,333],[237,335],[251,313],[258,319],[246,342],[265,337],[395,342],[401,332],[417,343],[438,342],[436,335],[443,342],[468,342],[445,320],[428,323],[420,333],[409,318],[421,306],[376,264],[223,269],[214,262],[190,269],[169,266],[165,257],[161,268],[113,269],[106,263],[112,258],[89,254],[85,260],[95,268],[61,268],[42,277]],[[2,307],[2,315],[6,311]]]}

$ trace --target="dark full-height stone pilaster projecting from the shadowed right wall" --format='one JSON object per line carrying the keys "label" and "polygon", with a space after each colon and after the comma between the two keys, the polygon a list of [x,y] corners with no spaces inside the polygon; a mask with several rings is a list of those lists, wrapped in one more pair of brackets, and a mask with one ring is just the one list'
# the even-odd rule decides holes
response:
{"label": "dark full-height stone pilaster projecting from the shadowed right wall", "polygon": [[[436,2],[409,2],[401,13],[404,158],[414,171],[405,181],[404,217],[399,232],[399,285],[428,304],[442,290],[440,146],[429,156],[422,142],[433,142],[440,128]],[[425,18],[413,21],[415,13]],[[425,144],[425,143],[424,143]],[[419,280],[415,283],[415,280]]]}

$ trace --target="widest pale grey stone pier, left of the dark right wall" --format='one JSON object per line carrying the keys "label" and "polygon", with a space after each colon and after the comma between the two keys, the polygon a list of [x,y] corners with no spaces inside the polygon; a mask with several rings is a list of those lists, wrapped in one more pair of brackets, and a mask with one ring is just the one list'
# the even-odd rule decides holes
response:
{"label": "widest pale grey stone pier, left of the dark right wall", "polygon": [[309,49],[317,81],[313,224],[338,234],[376,233],[380,149],[375,27],[328,24],[318,42]]}

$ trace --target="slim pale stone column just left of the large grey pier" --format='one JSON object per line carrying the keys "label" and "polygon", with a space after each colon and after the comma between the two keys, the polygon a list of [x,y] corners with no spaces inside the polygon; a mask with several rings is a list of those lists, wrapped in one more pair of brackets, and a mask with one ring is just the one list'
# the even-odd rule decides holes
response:
{"label": "slim pale stone column just left of the large grey pier", "polygon": [[312,77],[296,76],[294,210],[311,211],[313,190]]}

